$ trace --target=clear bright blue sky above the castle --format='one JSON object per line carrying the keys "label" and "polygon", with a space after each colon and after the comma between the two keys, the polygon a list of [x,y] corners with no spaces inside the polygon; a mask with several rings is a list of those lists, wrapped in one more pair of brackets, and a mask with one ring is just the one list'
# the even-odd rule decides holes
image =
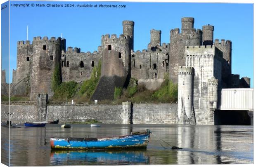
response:
{"label": "clear bright blue sky above the castle", "polygon": [[[122,33],[122,21],[135,21],[134,49],[147,48],[150,30],[161,30],[161,43],[170,42],[170,30],[181,28],[182,17],[194,17],[194,28],[214,26],[214,39],[232,41],[232,73],[251,78],[253,87],[253,4],[242,3],[156,3],[156,2],[49,2],[11,1],[10,4],[111,4],[126,8],[100,7],[10,7],[10,71],[16,69],[17,41],[33,37],[66,38],[66,47],[93,52],[103,34]],[[6,64],[2,63],[6,69]],[[12,73],[10,74],[12,80]]]}

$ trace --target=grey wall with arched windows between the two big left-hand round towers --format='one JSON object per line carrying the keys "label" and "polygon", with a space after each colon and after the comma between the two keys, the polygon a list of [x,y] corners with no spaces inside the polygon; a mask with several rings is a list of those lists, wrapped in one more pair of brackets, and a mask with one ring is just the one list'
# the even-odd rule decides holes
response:
{"label": "grey wall with arched windows between the two big left-hand round towers", "polygon": [[62,53],[62,82],[82,82],[90,79],[92,68],[98,65],[101,53],[79,52],[80,48],[68,47],[66,53]]}

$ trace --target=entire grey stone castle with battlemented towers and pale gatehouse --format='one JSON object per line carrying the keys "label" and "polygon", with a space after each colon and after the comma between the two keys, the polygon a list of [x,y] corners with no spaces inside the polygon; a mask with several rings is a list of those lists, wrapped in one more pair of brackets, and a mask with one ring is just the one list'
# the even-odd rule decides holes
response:
{"label": "entire grey stone castle with battlemented towers and pale gatehouse", "polygon": [[[123,21],[123,34],[119,37],[102,35],[101,46],[93,53],[80,52],[77,47],[66,49],[63,38],[36,37],[32,44],[19,41],[10,94],[30,96],[32,101],[38,93],[47,93],[51,98],[54,73],[59,74],[62,82],[82,82],[90,78],[92,68],[101,60],[100,82],[92,100],[113,99],[114,87],[126,87],[130,78],[154,90],[168,76],[178,83],[179,122],[211,124],[218,90],[250,87],[250,78],[240,79],[231,73],[232,42],[213,40],[213,26],[195,29],[192,17],[183,17],[181,24],[181,31],[179,28],[170,31],[170,43],[161,44],[161,31],[152,29],[147,49],[136,52],[133,21]],[[1,84],[5,89],[4,83]]]}

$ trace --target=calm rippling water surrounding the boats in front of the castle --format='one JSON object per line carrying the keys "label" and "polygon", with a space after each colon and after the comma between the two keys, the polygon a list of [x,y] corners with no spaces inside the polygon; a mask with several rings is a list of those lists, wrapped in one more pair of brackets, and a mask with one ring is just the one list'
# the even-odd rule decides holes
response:
{"label": "calm rippling water surrounding the boats in front of the castle", "polygon": [[[164,165],[254,163],[253,126],[200,125],[58,125],[10,129],[10,165]],[[104,137],[142,132],[153,133],[147,150],[51,151],[50,138]],[[1,127],[1,162],[8,165],[9,129]],[[160,141],[164,140],[168,144]],[[171,146],[183,149],[171,150]]]}

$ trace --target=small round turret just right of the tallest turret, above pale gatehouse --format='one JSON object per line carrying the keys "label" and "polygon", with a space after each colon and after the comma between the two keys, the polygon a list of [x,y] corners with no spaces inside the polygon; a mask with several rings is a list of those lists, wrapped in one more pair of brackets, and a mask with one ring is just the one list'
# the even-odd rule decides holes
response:
{"label": "small round turret just right of the tallest turret, above pale gatehouse", "polygon": [[211,25],[202,26],[203,31],[203,45],[213,45],[213,30]]}

